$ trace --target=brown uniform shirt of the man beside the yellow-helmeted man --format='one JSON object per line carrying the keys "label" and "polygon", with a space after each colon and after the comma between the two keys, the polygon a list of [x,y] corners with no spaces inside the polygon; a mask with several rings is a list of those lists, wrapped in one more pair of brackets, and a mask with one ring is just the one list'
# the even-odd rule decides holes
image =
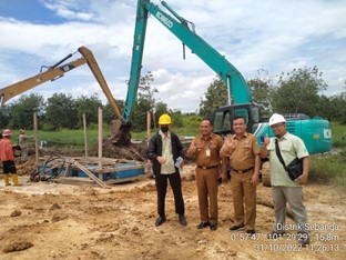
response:
{"label": "brown uniform shirt of the man beside the yellow-helmeted man", "polygon": [[[192,142],[196,146],[195,163],[201,167],[220,166],[220,150],[223,146],[223,140],[220,136],[212,133],[207,140],[204,140],[202,134],[195,137]],[[210,150],[210,153],[207,152]]]}

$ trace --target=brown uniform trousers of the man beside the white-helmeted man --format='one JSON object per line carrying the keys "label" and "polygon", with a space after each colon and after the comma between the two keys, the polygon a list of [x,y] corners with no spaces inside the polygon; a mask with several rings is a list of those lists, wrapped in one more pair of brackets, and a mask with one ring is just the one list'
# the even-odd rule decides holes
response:
{"label": "brown uniform trousers of the man beside the white-helmeted man", "polygon": [[256,220],[256,186],[251,183],[252,176],[253,170],[246,173],[231,172],[234,226],[245,224],[247,230],[255,229]]}

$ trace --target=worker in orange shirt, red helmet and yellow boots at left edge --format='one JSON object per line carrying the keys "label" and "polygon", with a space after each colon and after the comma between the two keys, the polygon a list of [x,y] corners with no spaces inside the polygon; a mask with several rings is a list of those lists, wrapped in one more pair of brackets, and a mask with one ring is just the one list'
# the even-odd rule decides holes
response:
{"label": "worker in orange shirt, red helmet and yellow boots at left edge", "polygon": [[0,141],[0,160],[2,161],[2,164],[3,164],[4,184],[10,186],[9,174],[11,173],[13,184],[22,186],[21,183],[18,182],[18,174],[17,174],[16,164],[14,164],[13,149],[12,149],[11,140],[10,140],[11,136],[12,136],[11,130],[6,129],[2,132],[2,139]]}

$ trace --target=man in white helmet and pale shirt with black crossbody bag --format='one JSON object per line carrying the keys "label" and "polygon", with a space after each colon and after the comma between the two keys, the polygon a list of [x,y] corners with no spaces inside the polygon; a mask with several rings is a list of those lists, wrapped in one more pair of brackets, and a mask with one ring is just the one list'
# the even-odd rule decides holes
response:
{"label": "man in white helmet and pale shirt with black crossbody bag", "polygon": [[[275,227],[268,234],[271,239],[276,239],[285,233],[285,230],[297,230],[299,244],[309,243],[306,209],[303,203],[303,188],[306,183],[309,170],[311,158],[303,140],[286,131],[286,120],[282,114],[274,113],[269,119],[269,126],[275,138],[265,138],[261,149],[261,157],[269,157],[272,196],[275,203]],[[296,180],[291,180],[288,172],[281,163],[275,146],[279,148],[285,164],[289,164],[296,157],[303,159],[303,174]],[[295,224],[286,226],[286,202],[289,204]]]}

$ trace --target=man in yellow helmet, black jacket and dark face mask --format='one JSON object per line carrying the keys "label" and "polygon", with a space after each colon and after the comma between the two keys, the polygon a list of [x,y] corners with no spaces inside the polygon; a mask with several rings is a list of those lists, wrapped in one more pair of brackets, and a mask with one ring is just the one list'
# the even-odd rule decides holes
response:
{"label": "man in yellow helmet, black jacket and dark face mask", "polygon": [[155,221],[156,227],[166,220],[164,202],[169,180],[174,194],[175,213],[179,214],[179,222],[186,226],[182,180],[176,162],[179,158],[184,158],[183,146],[177,136],[170,131],[171,123],[172,120],[169,114],[160,117],[160,131],[151,138],[146,152],[147,159],[152,161],[157,191],[159,218]]}

